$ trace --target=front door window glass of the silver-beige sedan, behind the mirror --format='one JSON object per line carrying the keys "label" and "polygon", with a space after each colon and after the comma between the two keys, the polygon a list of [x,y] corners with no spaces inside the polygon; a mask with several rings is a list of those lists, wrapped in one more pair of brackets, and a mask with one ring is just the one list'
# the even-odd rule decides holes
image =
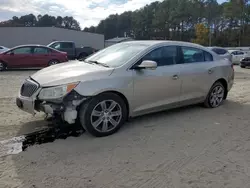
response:
{"label": "front door window glass of the silver-beige sedan, behind the mirror", "polygon": [[157,66],[173,65],[177,63],[177,47],[164,46],[153,50],[142,58],[157,63]]}

